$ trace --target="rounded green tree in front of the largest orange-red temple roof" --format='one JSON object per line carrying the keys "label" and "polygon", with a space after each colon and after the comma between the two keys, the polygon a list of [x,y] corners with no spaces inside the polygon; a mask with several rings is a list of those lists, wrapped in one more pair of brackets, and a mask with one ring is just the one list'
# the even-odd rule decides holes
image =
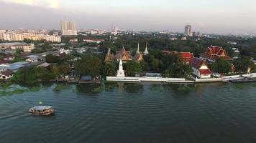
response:
{"label": "rounded green tree in front of the largest orange-red temple roof", "polygon": [[230,71],[232,71],[232,64],[221,58],[214,62],[214,64],[211,65],[211,71],[214,71],[219,74],[229,74]]}

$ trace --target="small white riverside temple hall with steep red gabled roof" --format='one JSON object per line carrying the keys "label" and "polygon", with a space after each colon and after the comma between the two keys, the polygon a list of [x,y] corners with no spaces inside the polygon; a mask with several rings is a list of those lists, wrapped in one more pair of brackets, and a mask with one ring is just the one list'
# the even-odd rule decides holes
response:
{"label": "small white riverside temple hall with steep red gabled roof", "polygon": [[191,66],[196,77],[201,79],[211,78],[211,70],[204,59],[193,58]]}

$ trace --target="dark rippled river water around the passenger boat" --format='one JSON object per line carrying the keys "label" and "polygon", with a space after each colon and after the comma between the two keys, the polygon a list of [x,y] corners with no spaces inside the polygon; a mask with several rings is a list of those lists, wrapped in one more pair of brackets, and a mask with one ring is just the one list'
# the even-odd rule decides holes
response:
{"label": "dark rippled river water around the passenger boat", "polygon": [[[256,142],[256,84],[0,88],[0,142]],[[34,104],[56,114],[28,114]]]}

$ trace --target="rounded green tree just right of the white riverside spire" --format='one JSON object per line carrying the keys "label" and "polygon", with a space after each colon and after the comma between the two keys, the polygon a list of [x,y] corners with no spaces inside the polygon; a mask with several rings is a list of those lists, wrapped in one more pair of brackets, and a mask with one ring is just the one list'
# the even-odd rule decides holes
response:
{"label": "rounded green tree just right of the white riverside spire", "polygon": [[140,74],[142,72],[142,67],[135,61],[128,61],[125,64],[125,70],[129,76],[135,76],[135,74]]}

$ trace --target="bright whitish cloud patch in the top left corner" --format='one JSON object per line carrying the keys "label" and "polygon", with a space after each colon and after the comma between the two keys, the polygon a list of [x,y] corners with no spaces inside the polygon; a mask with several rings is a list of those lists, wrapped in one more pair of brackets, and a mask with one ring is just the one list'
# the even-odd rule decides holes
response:
{"label": "bright whitish cloud patch in the top left corner", "polygon": [[59,0],[0,0],[11,4],[23,4],[29,6],[42,6],[52,9],[59,9]]}

